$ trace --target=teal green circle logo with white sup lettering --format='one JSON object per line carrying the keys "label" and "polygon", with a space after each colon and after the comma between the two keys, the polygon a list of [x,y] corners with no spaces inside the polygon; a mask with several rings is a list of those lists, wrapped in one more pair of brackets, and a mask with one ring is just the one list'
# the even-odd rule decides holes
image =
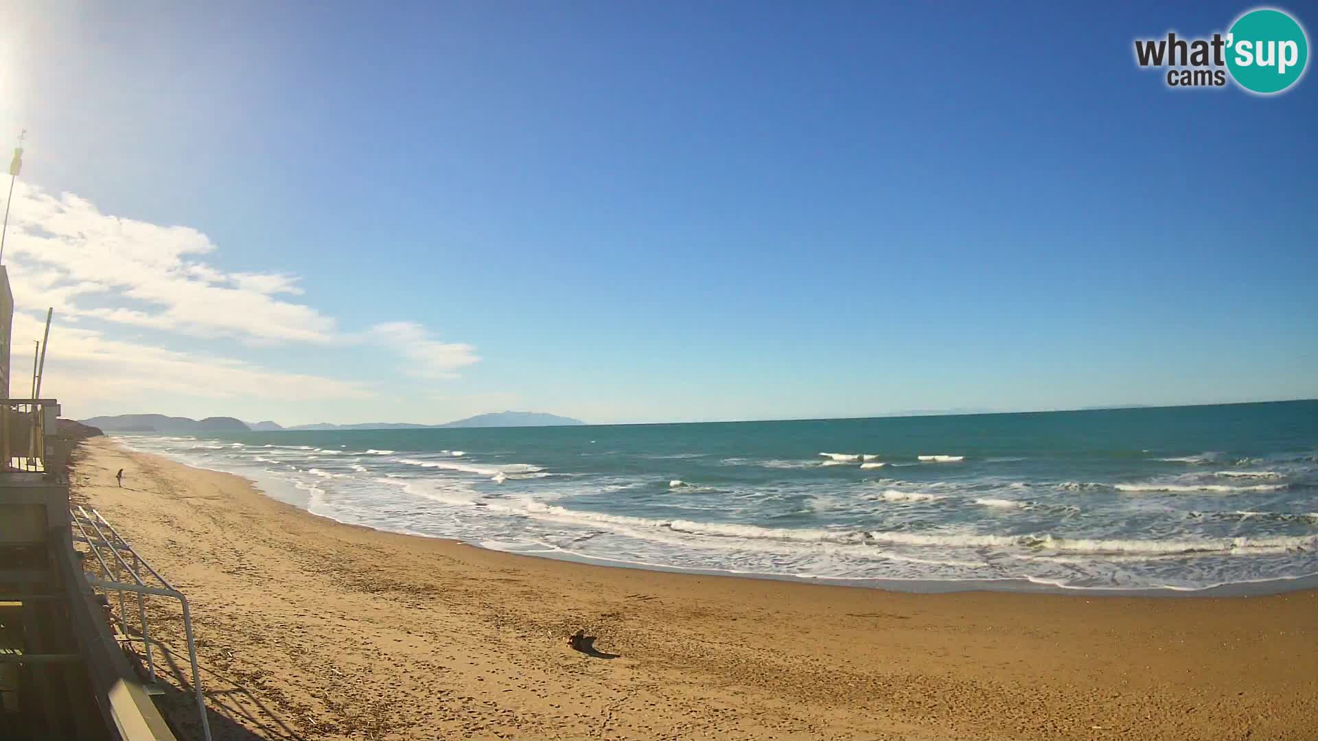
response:
{"label": "teal green circle logo with white sup lettering", "polygon": [[1286,90],[1305,74],[1307,62],[1305,29],[1281,11],[1249,11],[1227,33],[1227,69],[1251,92],[1271,95]]}

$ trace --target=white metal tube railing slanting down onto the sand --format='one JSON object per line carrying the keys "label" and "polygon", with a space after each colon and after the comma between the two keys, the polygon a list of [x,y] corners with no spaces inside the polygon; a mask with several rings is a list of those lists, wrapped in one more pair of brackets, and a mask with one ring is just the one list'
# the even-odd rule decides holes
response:
{"label": "white metal tube railing slanting down onto the sand", "polygon": [[[202,692],[202,674],[196,663],[196,642],[192,639],[192,614],[188,610],[187,597],[182,592],[174,588],[163,576],[159,575],[152,564],[146,563],[141,555],[125,541],[115,526],[105,521],[104,517],[95,509],[91,514],[82,505],[70,506],[69,516],[72,518],[74,523],[74,541],[87,543],[91,548],[92,555],[100,563],[100,578],[88,576],[87,583],[94,588],[105,592],[107,597],[109,592],[117,592],[119,595],[119,633],[123,636],[123,641],[141,641],[144,651],[146,654],[146,671],[150,675],[152,682],[156,682],[156,662],[152,658],[152,646],[161,649],[165,653],[170,653],[169,646],[161,643],[150,637],[149,624],[146,621],[146,596],[159,596],[171,597],[179,601],[183,607],[183,636],[187,638],[187,657],[192,665],[192,691],[196,695],[196,712],[202,716],[202,733],[206,741],[211,741],[211,724],[206,717],[206,695]],[[90,529],[90,530],[88,530]],[[107,552],[109,560],[107,560]],[[128,559],[124,554],[132,556],[132,566],[129,566]],[[113,563],[113,568],[111,568]],[[159,583],[158,587],[148,584],[140,570],[145,570],[146,574],[153,576],[156,581]],[[111,575],[113,572],[113,575]],[[132,581],[121,581],[123,574],[127,572]],[[125,609],[124,595],[133,593],[137,595],[137,618],[141,626],[141,638],[133,638],[128,632],[128,609]],[[132,597],[129,597],[129,603]]]}

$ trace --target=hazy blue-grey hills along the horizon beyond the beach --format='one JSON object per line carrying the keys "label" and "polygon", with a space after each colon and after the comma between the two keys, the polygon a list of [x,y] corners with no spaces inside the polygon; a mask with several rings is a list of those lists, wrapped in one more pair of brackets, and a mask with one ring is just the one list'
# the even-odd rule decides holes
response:
{"label": "hazy blue-grey hills along the horizon beyond the beach", "polygon": [[245,432],[272,430],[423,430],[439,427],[558,427],[585,425],[580,419],[544,414],[543,411],[496,411],[477,414],[467,419],[445,425],[409,425],[405,422],[366,422],[364,425],[295,425],[285,427],[277,422],[243,422],[232,417],[207,417],[188,419],[187,417],[165,417],[163,414],[120,414],[115,417],[92,417],[83,419],[84,425],[100,427],[107,432]]}

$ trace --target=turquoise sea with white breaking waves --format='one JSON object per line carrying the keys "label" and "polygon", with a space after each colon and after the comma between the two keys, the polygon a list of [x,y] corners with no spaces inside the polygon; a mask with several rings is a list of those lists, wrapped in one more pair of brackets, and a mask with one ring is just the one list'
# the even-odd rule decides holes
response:
{"label": "turquoise sea with white breaking waves", "polygon": [[115,438],[340,522],[544,558],[915,591],[1318,578],[1318,401]]}

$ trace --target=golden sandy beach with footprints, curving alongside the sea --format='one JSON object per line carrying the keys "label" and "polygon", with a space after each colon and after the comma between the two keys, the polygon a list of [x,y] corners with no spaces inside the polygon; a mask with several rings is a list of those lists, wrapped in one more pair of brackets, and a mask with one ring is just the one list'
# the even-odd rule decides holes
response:
{"label": "golden sandy beach with footprints, curving alongside the sea", "polygon": [[[341,525],[105,438],[72,483],[192,601],[216,738],[1318,733],[1314,591],[915,595],[584,566]],[[152,609],[182,649],[177,609]],[[166,703],[196,733],[188,695]]]}

